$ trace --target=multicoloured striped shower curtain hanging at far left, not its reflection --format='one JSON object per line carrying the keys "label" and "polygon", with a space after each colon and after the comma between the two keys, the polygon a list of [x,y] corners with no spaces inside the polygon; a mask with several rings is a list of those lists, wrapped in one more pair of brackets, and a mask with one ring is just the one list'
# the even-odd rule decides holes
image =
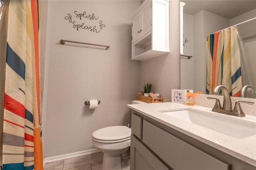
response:
{"label": "multicoloured striped shower curtain hanging at far left, not its reflection", "polygon": [[2,164],[42,170],[38,0],[8,6]]}

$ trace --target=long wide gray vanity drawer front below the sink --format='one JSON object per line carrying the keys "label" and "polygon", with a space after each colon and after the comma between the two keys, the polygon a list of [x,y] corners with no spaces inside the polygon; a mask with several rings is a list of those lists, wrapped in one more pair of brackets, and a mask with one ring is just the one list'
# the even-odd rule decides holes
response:
{"label": "long wide gray vanity drawer front below the sink", "polygon": [[174,170],[230,170],[231,165],[143,120],[143,142]]}

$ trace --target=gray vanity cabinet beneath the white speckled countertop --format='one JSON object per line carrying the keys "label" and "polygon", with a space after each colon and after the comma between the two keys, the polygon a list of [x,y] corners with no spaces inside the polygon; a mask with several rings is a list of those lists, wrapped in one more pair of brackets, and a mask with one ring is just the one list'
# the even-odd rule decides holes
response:
{"label": "gray vanity cabinet beneath the white speckled countertop", "polygon": [[132,111],[130,153],[131,170],[255,169],[136,111]]}

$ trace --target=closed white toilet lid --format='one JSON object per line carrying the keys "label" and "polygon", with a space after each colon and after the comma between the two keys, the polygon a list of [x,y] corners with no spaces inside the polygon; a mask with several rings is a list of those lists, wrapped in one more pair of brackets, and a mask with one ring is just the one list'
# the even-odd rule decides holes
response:
{"label": "closed white toilet lid", "polygon": [[98,129],[92,133],[94,139],[102,141],[114,141],[131,136],[131,129],[127,126],[110,126]]}

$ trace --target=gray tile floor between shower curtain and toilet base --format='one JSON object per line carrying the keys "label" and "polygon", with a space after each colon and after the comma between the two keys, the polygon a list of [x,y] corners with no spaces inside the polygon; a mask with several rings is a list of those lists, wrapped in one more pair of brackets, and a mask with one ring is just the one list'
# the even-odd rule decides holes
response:
{"label": "gray tile floor between shower curtain and toilet base", "polygon": [[76,158],[50,162],[44,165],[44,170],[101,170],[103,153],[98,152]]}

